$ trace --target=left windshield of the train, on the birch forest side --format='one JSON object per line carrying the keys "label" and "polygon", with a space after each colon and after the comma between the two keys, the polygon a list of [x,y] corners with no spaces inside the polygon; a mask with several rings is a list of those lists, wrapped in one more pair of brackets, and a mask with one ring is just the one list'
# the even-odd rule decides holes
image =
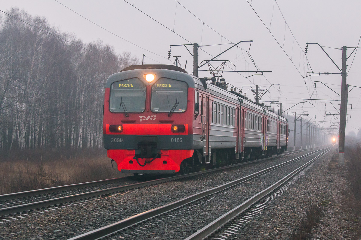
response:
{"label": "left windshield of the train, on the birch forest side", "polygon": [[113,82],[110,87],[110,112],[143,112],[145,85],[138,78]]}

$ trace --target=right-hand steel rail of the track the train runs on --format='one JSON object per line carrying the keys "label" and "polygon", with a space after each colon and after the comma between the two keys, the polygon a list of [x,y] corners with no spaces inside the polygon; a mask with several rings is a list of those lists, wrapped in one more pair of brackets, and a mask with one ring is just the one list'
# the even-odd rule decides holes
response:
{"label": "right-hand steel rail of the track the train runs on", "polygon": [[[310,150],[310,149],[305,149],[305,150]],[[227,169],[227,168],[238,167],[238,166],[242,166],[242,165],[245,165],[245,164],[255,163],[255,162],[259,162],[259,161],[263,161],[263,160],[269,160],[269,159],[272,159],[272,158],[277,158],[277,157],[280,157],[280,156],[285,156],[285,155],[289,155],[289,154],[293,154],[293,153],[298,153],[300,151],[305,151],[305,150],[304,149],[303,150],[296,150],[296,151],[292,151],[292,153],[290,152],[290,153],[286,153],[286,154],[282,154],[282,155],[278,155],[278,156],[274,156],[274,157],[270,157],[270,158],[258,159],[258,160],[254,160],[254,161],[250,161],[250,162],[244,162],[244,163],[237,163],[237,164],[233,164],[233,165],[230,165],[230,166],[213,168],[213,169],[208,169],[208,170],[204,170],[204,171],[200,171],[200,172],[188,173],[188,174],[184,174],[184,175],[180,175],[180,176],[160,178],[160,179],[140,182],[140,183],[136,183],[136,184],[110,187],[110,188],[107,188],[107,189],[100,189],[100,190],[95,190],[95,191],[89,191],[89,192],[86,192],[86,193],[79,193],[79,194],[73,194],[73,195],[68,195],[68,196],[61,196],[61,197],[58,197],[58,198],[46,199],[46,200],[37,201],[37,202],[33,202],[33,203],[26,203],[26,204],[14,205],[14,206],[11,206],[11,207],[6,207],[6,208],[0,208],[0,216],[3,216],[3,215],[5,216],[7,214],[12,214],[12,213],[17,213],[17,212],[24,212],[24,211],[28,211],[28,210],[31,210],[31,209],[38,209],[38,208],[40,209],[40,208],[51,207],[52,205],[63,204],[63,203],[66,203],[66,202],[72,202],[72,201],[78,201],[78,200],[82,200],[82,199],[95,198],[95,197],[99,197],[101,195],[104,196],[106,194],[114,194],[114,193],[118,193],[118,192],[123,192],[123,191],[127,191],[127,190],[141,188],[141,187],[151,186],[151,185],[155,185],[155,184],[161,184],[161,183],[164,183],[164,182],[170,182],[170,181],[179,180],[179,179],[182,179],[182,178],[193,177],[193,176],[201,175],[201,174],[204,174],[204,173],[219,171],[219,170],[223,170],[223,169]],[[314,153],[314,152],[312,152],[312,153]],[[306,156],[306,155],[304,155],[304,156]],[[303,157],[303,156],[301,156],[301,157]]]}

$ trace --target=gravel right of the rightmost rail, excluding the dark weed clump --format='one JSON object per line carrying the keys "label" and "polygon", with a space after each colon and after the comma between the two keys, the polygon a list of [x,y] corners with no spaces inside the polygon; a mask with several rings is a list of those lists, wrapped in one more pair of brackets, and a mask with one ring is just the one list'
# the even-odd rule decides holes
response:
{"label": "gravel right of the rightmost rail, excluding the dark weed clump", "polygon": [[347,188],[345,178],[342,173],[329,171],[327,167],[334,154],[335,150],[331,150],[317,160],[273,204],[269,204],[239,228],[237,234],[227,236],[227,239],[290,239],[293,231],[300,229],[300,223],[306,219],[306,211],[312,204],[319,207],[321,216],[316,227],[312,228],[310,239],[361,239],[353,231],[358,224],[354,221],[355,216],[343,210],[341,205],[345,199],[343,191]]}

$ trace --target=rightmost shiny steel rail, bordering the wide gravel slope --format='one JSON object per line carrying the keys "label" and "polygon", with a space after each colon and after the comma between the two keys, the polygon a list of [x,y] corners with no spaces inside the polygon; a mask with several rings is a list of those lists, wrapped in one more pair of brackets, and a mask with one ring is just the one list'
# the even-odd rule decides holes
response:
{"label": "rightmost shiny steel rail, bordering the wide gravel slope", "polygon": [[235,218],[239,214],[243,213],[245,210],[247,210],[249,207],[251,207],[257,201],[264,198],[266,195],[272,193],[274,190],[278,189],[280,186],[284,185],[286,182],[290,181],[293,177],[295,177],[297,174],[299,174],[301,171],[303,171],[306,167],[308,167],[316,159],[318,159],[319,157],[321,157],[323,154],[327,153],[331,149],[332,148],[327,149],[326,151],[323,151],[317,157],[313,158],[312,160],[305,163],[301,167],[295,169],[290,174],[288,174],[286,177],[283,177],[281,180],[275,182],[273,185],[271,185],[268,188],[260,191],[256,195],[253,195],[251,198],[247,199],[242,204],[240,204],[237,207],[233,208],[229,212],[223,214],[221,217],[219,217],[216,220],[214,220],[213,222],[209,223],[207,226],[201,228],[199,231],[193,233],[191,236],[187,237],[185,240],[201,240],[201,239],[205,239],[209,235],[216,232],[219,228],[224,226],[226,223],[231,221],[233,218]]}

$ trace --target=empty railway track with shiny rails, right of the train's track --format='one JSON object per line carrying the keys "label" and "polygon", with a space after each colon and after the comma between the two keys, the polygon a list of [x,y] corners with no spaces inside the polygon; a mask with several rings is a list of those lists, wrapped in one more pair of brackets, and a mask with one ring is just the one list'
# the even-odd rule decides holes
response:
{"label": "empty railway track with shiny rails, right of the train's track", "polygon": [[[134,215],[132,217],[123,219],[121,221],[112,223],[110,225],[98,228],[96,230],[84,233],[84,234],[79,235],[79,236],[72,237],[69,240],[83,240],[83,239],[88,239],[88,240],[94,239],[95,240],[95,239],[99,239],[99,238],[106,237],[106,236],[109,236],[109,235],[114,235],[115,233],[117,233],[117,232],[119,232],[121,230],[126,230],[128,228],[135,227],[135,226],[138,226],[138,225],[141,226],[142,224],[144,224],[144,221],[153,219],[153,218],[155,218],[157,216],[161,216],[162,214],[170,213],[172,211],[176,212],[177,210],[179,210],[182,207],[184,207],[184,209],[192,208],[192,207],[188,207],[188,205],[191,205],[191,204],[194,205],[193,209],[196,209],[196,208],[198,208],[200,203],[197,204],[198,206],[195,203],[197,203],[197,201],[202,201],[202,199],[204,199],[206,205],[208,205],[207,201],[210,202],[211,201],[210,199],[214,199],[214,198],[212,198],[212,195],[222,194],[222,192],[227,191],[227,190],[231,190],[231,189],[239,190],[239,189],[237,189],[237,187],[239,187],[239,184],[241,184],[241,183],[250,181],[250,180],[255,179],[255,178],[257,178],[257,177],[259,177],[261,175],[268,174],[271,171],[280,170],[278,168],[284,167],[284,166],[286,166],[288,164],[296,163],[298,160],[301,160],[301,159],[305,160],[305,158],[309,157],[310,155],[321,152],[320,154],[317,155],[317,157],[315,157],[315,158],[313,158],[311,160],[308,160],[301,167],[298,167],[296,170],[292,171],[290,174],[288,174],[286,177],[283,177],[281,180],[277,181],[275,184],[273,184],[273,185],[269,186],[268,188],[256,193],[255,195],[253,195],[251,198],[249,198],[243,204],[241,204],[242,205],[241,207],[238,206],[237,208],[232,209],[232,211],[230,211],[231,212],[230,214],[227,213],[227,216],[229,216],[229,218],[226,218],[224,216],[219,218],[219,219],[222,219],[223,222],[221,220],[217,219],[217,222],[213,223],[211,227],[209,227],[207,225],[206,230],[202,228],[203,230],[201,231],[201,234],[197,234],[197,237],[200,237],[200,238],[193,238],[195,236],[193,236],[194,234],[192,235],[192,239],[203,239],[204,237],[208,236],[212,232],[216,231],[219,227],[221,227],[222,225],[227,223],[229,221],[229,219],[232,219],[234,216],[238,215],[240,212],[243,212],[245,209],[247,209],[251,205],[255,204],[261,198],[264,198],[266,195],[270,194],[275,189],[278,189],[280,186],[284,185],[287,181],[289,181],[291,178],[296,176],[299,172],[303,171],[303,169],[308,167],[316,159],[321,157],[323,154],[325,154],[330,149],[331,149],[330,147],[327,147],[327,148],[319,149],[319,150],[316,150],[316,151],[312,151],[311,153],[307,153],[307,154],[305,154],[305,155],[303,155],[301,157],[289,160],[287,162],[275,165],[273,167],[263,169],[263,170],[258,171],[256,173],[252,173],[252,174],[250,174],[248,176],[239,178],[238,180],[234,180],[234,181],[228,182],[226,184],[222,184],[220,186],[214,187],[212,189],[208,189],[208,190],[202,191],[200,193],[193,194],[191,196],[188,196],[186,198],[183,198],[183,199],[174,201],[172,203],[163,205],[161,207],[154,208],[154,209],[148,210],[146,212],[136,214],[136,215]],[[185,206],[187,206],[187,207],[185,207]],[[185,210],[185,211],[187,212],[187,210]],[[172,214],[173,215],[170,215],[171,217],[177,217],[177,216],[182,215],[182,213],[172,213]],[[162,218],[162,219],[164,219],[164,218]],[[163,222],[161,219],[159,219],[158,221]],[[152,223],[150,223],[150,224],[152,224]],[[146,228],[143,228],[143,227],[140,227],[140,228],[143,229],[143,230],[146,229]],[[139,230],[139,228],[137,230],[139,232],[142,232],[141,230]],[[128,235],[128,236],[130,236],[130,235]],[[134,237],[134,236],[130,236],[130,237]],[[139,236],[137,235],[137,237],[142,238],[141,235],[139,235]]]}

